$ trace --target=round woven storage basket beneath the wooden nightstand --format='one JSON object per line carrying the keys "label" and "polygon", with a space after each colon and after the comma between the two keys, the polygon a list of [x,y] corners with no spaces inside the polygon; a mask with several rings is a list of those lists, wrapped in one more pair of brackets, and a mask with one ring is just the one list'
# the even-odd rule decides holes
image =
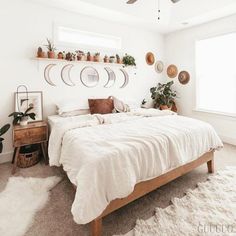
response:
{"label": "round woven storage basket beneath the wooden nightstand", "polygon": [[27,168],[36,165],[40,160],[40,151],[38,145],[24,146],[20,149],[17,158],[17,166],[20,168]]}

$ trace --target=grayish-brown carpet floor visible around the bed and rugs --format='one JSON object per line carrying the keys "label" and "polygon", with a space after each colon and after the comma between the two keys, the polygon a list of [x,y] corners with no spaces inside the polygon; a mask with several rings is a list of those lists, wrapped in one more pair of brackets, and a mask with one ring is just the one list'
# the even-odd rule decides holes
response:
{"label": "grayish-brown carpet floor visible around the bed and rugs", "polygon": [[[215,166],[222,169],[225,166],[236,166],[236,147],[225,144],[224,149],[215,154]],[[63,176],[63,171],[39,163],[27,169],[17,169],[16,176],[47,177]],[[11,176],[11,164],[0,165],[0,191]],[[172,197],[182,197],[188,188],[195,188],[200,181],[207,178],[207,167],[203,165],[191,173],[157,189],[156,191],[136,200],[128,206],[104,218],[103,235],[127,233],[135,226],[138,218],[148,219],[154,214],[155,207],[167,207]],[[38,212],[34,224],[26,236],[87,236],[89,225],[77,225],[73,222],[70,212],[74,198],[74,190],[66,176],[51,193],[51,199],[46,207]],[[23,216],[22,216],[23,217]]]}

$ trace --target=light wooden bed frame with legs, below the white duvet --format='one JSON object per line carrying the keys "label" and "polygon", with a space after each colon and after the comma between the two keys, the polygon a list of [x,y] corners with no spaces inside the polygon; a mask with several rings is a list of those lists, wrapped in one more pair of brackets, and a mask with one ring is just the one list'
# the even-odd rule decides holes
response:
{"label": "light wooden bed frame with legs, below the white duvet", "polygon": [[147,193],[152,192],[158,187],[169,183],[170,181],[190,172],[191,170],[197,168],[198,166],[207,163],[208,172],[214,172],[214,151],[207,152],[198,159],[187,163],[183,166],[180,166],[176,169],[173,169],[163,175],[160,175],[154,179],[140,182],[135,185],[134,191],[125,198],[115,199],[110,202],[104,212],[95,220],[91,222],[92,226],[92,236],[102,236],[102,218],[113,211],[129,204],[130,202],[146,195]]}

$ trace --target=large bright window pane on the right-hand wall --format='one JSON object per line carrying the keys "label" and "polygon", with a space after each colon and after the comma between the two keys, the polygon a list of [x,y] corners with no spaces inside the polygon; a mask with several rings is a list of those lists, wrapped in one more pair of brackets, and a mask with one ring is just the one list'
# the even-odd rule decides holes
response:
{"label": "large bright window pane on the right-hand wall", "polygon": [[236,33],[196,42],[197,109],[236,115]]}

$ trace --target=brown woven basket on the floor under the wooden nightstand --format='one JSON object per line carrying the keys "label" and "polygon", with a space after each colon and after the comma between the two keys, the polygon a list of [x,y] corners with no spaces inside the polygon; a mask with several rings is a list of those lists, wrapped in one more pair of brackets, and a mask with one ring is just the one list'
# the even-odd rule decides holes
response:
{"label": "brown woven basket on the floor under the wooden nightstand", "polygon": [[17,166],[20,168],[27,168],[36,165],[40,160],[39,148],[33,148],[32,152],[24,153],[24,150],[19,153],[17,159]]}

